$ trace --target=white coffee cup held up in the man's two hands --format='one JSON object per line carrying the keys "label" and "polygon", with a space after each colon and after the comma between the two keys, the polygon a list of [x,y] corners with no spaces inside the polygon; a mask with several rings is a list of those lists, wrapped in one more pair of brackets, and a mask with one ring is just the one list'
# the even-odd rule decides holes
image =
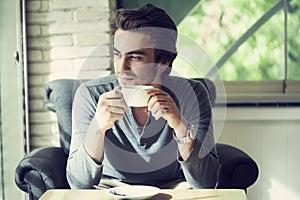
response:
{"label": "white coffee cup held up in the man's two hands", "polygon": [[144,107],[147,106],[149,95],[147,90],[153,89],[150,85],[124,85],[120,92],[128,106]]}

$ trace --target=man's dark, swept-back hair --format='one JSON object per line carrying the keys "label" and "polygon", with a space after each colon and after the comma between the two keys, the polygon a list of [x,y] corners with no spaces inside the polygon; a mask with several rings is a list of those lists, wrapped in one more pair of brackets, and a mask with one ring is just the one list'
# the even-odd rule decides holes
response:
{"label": "man's dark, swept-back hair", "polygon": [[[177,27],[171,17],[161,8],[155,7],[152,4],[137,9],[119,9],[116,13],[115,23],[112,25],[113,35],[118,29],[134,30],[140,28],[162,28],[169,30],[171,35],[166,35],[165,39],[172,40],[171,44],[175,51],[167,51],[164,49],[155,48],[155,62],[167,63],[170,62],[170,67],[177,56],[176,40]],[[170,70],[169,70],[170,71]],[[169,74],[170,72],[168,72]]]}

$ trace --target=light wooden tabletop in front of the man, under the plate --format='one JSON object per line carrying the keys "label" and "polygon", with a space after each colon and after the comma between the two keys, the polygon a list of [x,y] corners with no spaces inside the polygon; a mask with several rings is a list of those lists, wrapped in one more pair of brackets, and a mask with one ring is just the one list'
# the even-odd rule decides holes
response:
{"label": "light wooden tabletop in front of the man, under the plate", "polygon": [[[40,200],[113,200],[106,190],[48,190]],[[151,200],[247,200],[244,190],[238,189],[194,189],[160,190]]]}

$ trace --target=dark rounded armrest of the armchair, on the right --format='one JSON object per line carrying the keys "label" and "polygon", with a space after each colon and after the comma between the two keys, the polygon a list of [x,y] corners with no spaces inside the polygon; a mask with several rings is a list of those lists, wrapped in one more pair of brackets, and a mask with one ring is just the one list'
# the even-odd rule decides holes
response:
{"label": "dark rounded armrest of the armchair, on the right", "polygon": [[221,164],[217,188],[246,190],[258,177],[255,161],[242,150],[227,144],[217,143]]}

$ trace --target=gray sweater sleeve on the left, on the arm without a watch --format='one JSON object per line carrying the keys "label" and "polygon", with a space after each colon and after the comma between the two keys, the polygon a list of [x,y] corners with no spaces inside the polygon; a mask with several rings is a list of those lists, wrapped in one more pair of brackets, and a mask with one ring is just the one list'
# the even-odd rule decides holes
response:
{"label": "gray sweater sleeve on the left, on the arm without a watch", "polygon": [[102,175],[102,164],[97,164],[83,146],[86,131],[94,117],[97,102],[88,88],[81,85],[74,97],[72,109],[72,138],[67,161],[67,180],[71,188],[92,188]]}

